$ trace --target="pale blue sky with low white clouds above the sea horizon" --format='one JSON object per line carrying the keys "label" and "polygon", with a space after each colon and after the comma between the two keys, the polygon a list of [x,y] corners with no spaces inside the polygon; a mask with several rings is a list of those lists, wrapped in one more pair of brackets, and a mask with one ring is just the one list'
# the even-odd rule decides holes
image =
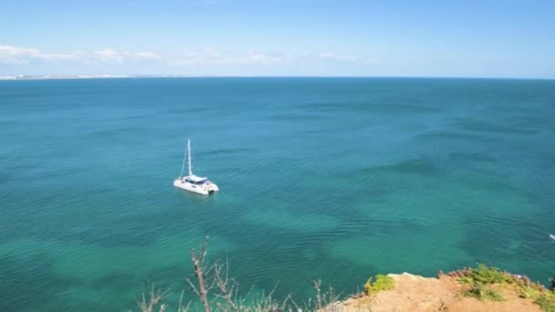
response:
{"label": "pale blue sky with low white clouds above the sea horizon", "polygon": [[0,76],[100,74],[555,78],[555,1],[0,1]]}

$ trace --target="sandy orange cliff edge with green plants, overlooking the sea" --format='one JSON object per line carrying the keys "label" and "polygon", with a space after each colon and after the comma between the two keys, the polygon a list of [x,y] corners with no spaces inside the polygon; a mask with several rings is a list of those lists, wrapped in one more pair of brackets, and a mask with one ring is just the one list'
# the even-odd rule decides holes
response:
{"label": "sandy orange cliff edge with green plants, overlooking the sea", "polygon": [[[551,311],[550,307],[540,307],[538,297],[546,296],[542,286],[528,284],[526,279],[515,282],[520,276],[512,276],[515,281],[485,283],[479,286],[479,293],[473,289],[473,280],[457,274],[440,273],[438,278],[414,276],[408,273],[390,274],[393,289],[381,290],[372,296],[365,293],[332,304],[330,310],[338,312],[392,312],[392,311]],[[486,285],[487,284],[487,285]],[[530,286],[529,286],[530,285]],[[529,293],[528,291],[539,293]],[[546,294],[550,291],[544,289]],[[470,294],[470,295],[468,295]],[[491,294],[492,297],[487,297]],[[474,296],[476,295],[476,296]],[[548,295],[550,296],[550,295]]]}

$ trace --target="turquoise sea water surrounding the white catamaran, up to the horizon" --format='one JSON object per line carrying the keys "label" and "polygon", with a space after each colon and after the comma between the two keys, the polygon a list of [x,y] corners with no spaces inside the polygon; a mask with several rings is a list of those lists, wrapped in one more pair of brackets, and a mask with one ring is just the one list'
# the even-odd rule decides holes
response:
{"label": "turquoise sea water surrounding the white catamaran, up to the horizon", "polygon": [[[124,311],[188,249],[302,300],[478,262],[555,275],[555,81],[0,81],[0,310]],[[186,138],[211,197],[173,188]]]}

